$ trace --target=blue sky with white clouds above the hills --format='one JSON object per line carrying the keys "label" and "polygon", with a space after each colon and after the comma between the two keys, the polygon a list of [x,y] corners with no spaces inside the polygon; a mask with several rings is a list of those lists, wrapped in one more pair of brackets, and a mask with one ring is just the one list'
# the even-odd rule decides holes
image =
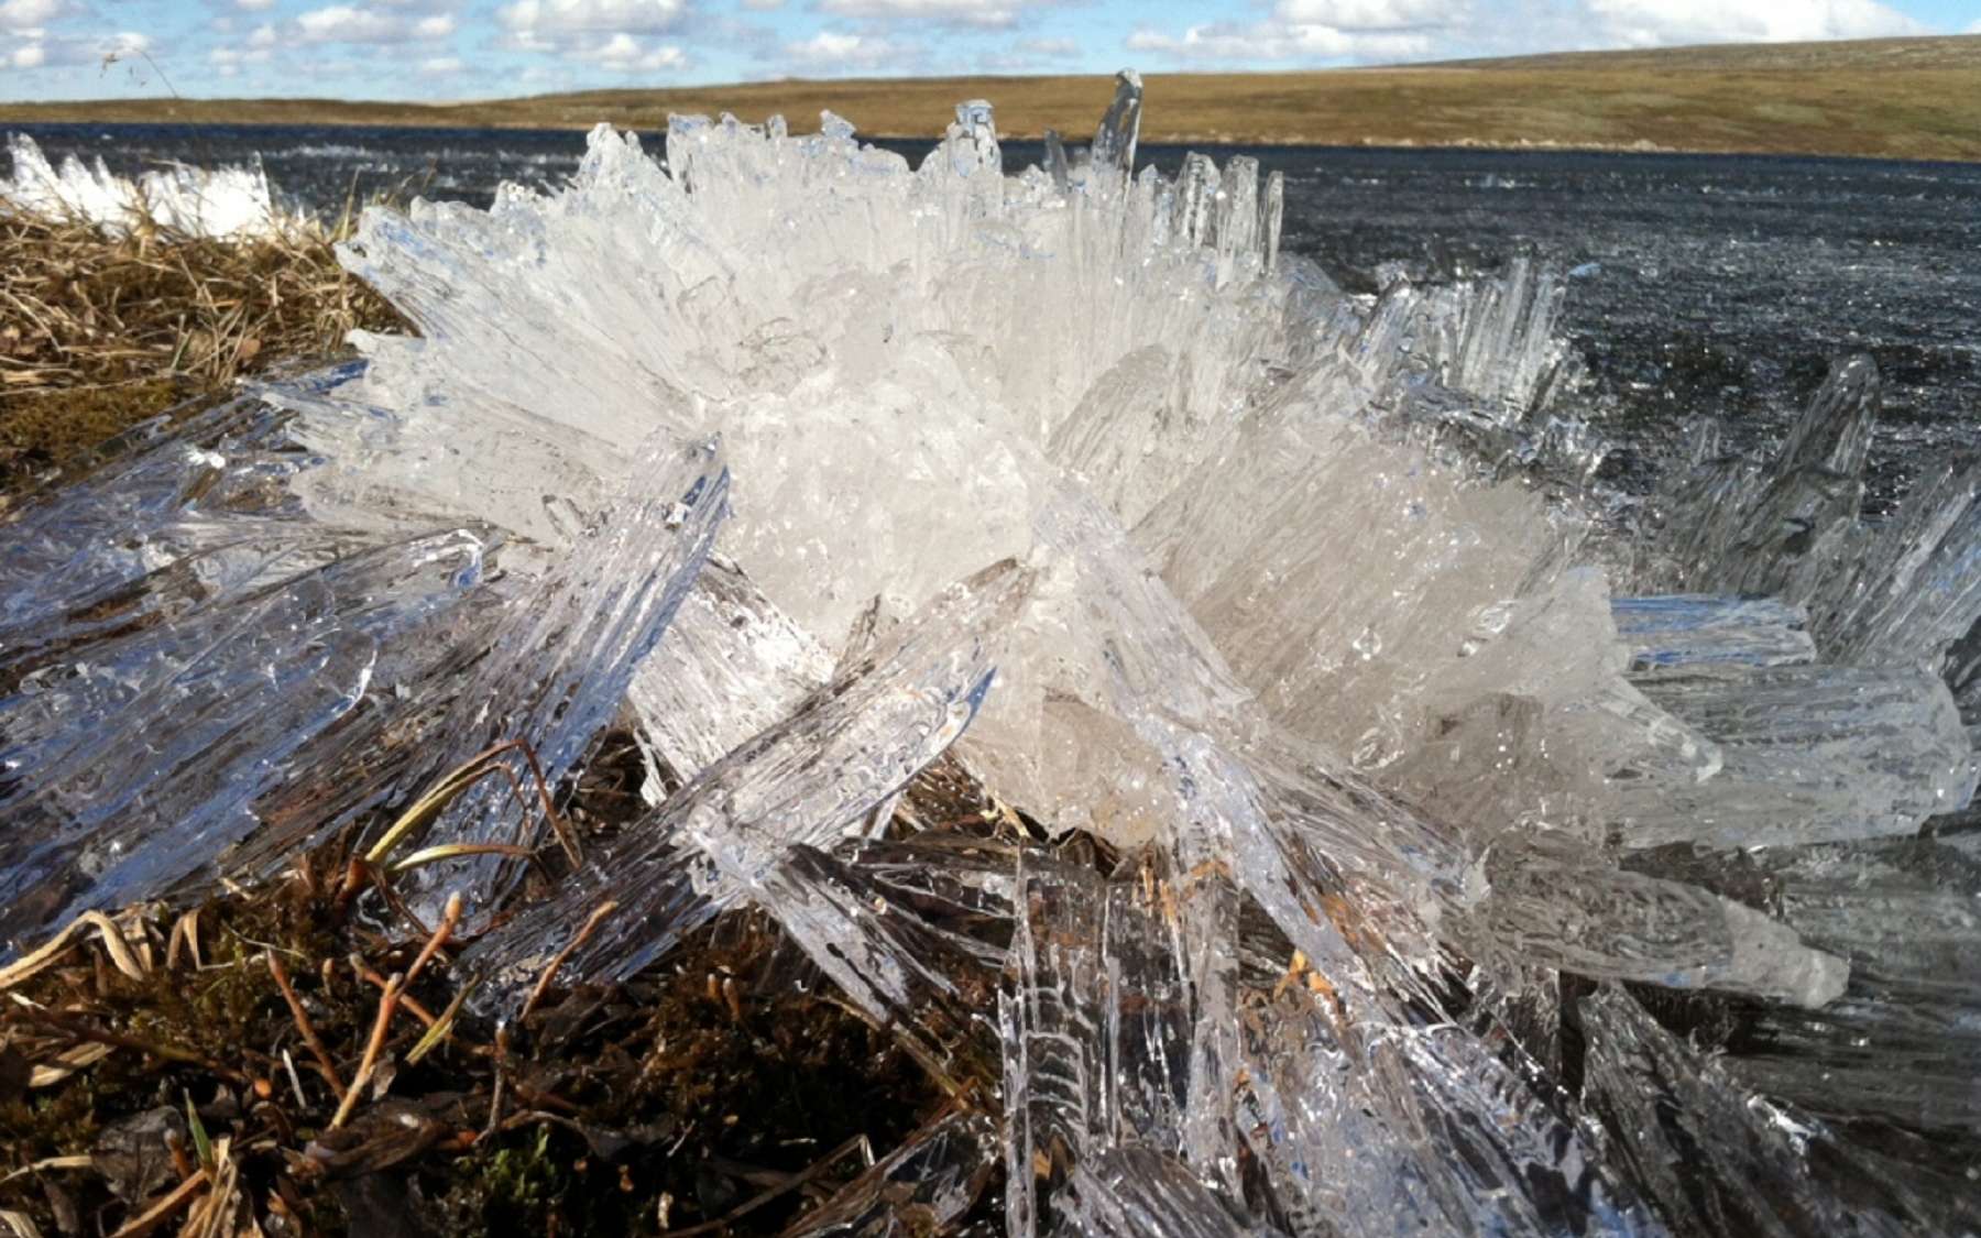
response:
{"label": "blue sky with white clouds above the hills", "polygon": [[473,99],[1955,32],[1981,32],[1981,0],[0,0],[0,99]]}

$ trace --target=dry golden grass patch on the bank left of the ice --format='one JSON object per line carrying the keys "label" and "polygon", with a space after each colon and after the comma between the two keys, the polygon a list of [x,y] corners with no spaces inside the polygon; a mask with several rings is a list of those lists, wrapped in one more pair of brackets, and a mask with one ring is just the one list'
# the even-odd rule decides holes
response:
{"label": "dry golden grass patch on the bank left of the ice", "polygon": [[0,485],[273,361],[339,353],[353,327],[396,325],[319,228],[119,238],[0,202]]}

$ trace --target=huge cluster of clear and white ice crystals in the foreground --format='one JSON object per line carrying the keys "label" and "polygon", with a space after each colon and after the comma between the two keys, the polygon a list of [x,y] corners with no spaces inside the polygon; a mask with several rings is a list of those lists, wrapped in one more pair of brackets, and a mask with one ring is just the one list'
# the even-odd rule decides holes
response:
{"label": "huge cluster of clear and white ice crystals in the foreground", "polygon": [[[1135,172],[1139,115],[1123,75],[1016,176],[983,103],[919,166],[676,119],[370,212],[345,261],[418,339],[6,525],[0,927],[269,874],[503,739],[565,792],[624,705],[650,808],[464,961],[499,1006],[608,903],[567,975],[777,917],[977,1097],[814,1232],[996,1167],[1014,1238],[1981,1224],[1862,1135],[1981,1129],[1981,877],[1931,836],[1981,473],[1862,523],[1846,359],[1618,533],[1551,275],[1343,295],[1278,176]],[[935,763],[1034,828],[921,822]],[[485,784],[430,840],[533,828]]]}

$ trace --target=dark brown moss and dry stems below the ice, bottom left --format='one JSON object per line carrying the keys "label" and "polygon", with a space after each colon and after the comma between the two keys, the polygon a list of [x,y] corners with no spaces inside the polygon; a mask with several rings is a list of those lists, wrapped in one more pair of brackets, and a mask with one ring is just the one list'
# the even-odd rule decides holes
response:
{"label": "dark brown moss and dry stems below the ice, bottom left", "polygon": [[[565,826],[624,828],[642,771],[608,737]],[[935,776],[909,798],[1000,828]],[[456,959],[479,917],[422,923],[390,876],[420,856],[368,854],[347,836],[182,913],[87,913],[0,967],[0,1234],[779,1234],[893,1206],[872,1157],[994,1089],[945,1093],[751,909],[624,984],[549,963],[491,1022]]]}

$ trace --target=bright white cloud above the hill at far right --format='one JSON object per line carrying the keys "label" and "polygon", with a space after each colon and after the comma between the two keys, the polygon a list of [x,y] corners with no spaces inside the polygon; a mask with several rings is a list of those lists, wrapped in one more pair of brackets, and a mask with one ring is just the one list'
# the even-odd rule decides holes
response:
{"label": "bright white cloud above the hill at far right", "polygon": [[1672,44],[1775,44],[1926,34],[1926,28],[1878,0],[1589,0],[1601,38],[1632,48]]}

